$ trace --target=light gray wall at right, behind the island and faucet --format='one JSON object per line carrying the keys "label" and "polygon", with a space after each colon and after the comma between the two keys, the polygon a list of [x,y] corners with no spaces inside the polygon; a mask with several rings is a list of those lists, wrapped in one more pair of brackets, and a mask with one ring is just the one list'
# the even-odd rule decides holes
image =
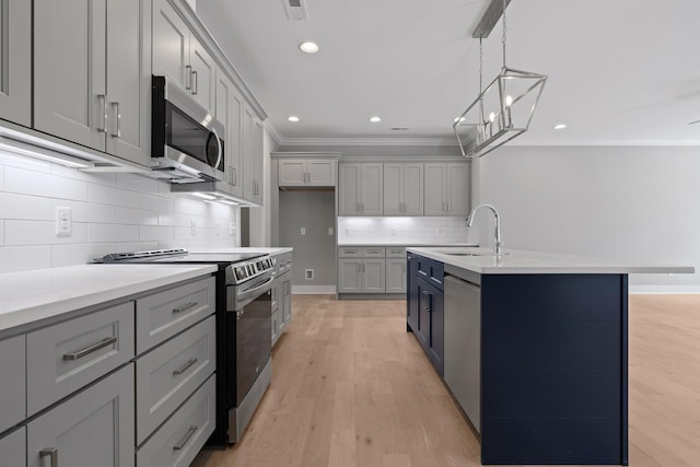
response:
{"label": "light gray wall at right, behind the island and faucet", "polygon": [[[700,268],[700,148],[504,147],[472,164],[506,248]],[[491,243],[491,219],[477,219]],[[698,288],[700,275],[632,275],[637,290]],[[673,289],[669,289],[673,290]]]}

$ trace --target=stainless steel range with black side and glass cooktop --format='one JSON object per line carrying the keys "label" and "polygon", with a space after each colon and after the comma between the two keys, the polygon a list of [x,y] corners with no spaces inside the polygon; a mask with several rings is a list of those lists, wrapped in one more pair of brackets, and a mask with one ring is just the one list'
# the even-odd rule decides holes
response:
{"label": "stainless steel range with black side and glass cooktop", "polygon": [[98,262],[211,264],[217,271],[217,428],[210,444],[238,441],[272,377],[275,259],[259,253],[119,253]]}

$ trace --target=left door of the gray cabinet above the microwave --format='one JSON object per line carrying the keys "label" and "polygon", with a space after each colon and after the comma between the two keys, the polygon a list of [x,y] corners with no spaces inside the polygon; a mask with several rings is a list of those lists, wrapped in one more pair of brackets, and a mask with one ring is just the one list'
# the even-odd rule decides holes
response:
{"label": "left door of the gray cabinet above the microwave", "polygon": [[189,91],[189,27],[168,0],[153,0],[153,74]]}

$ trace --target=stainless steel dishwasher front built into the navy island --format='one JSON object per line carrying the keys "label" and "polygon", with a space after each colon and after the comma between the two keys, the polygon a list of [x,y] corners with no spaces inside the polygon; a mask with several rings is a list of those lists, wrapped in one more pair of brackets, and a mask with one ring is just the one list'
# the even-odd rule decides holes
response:
{"label": "stainless steel dishwasher front built into the navy island", "polygon": [[444,380],[481,433],[481,288],[445,275]]}

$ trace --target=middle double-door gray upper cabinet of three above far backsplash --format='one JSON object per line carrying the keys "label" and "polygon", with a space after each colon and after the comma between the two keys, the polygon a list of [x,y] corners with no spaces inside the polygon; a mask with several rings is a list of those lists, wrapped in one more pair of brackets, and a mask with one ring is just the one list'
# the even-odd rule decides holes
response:
{"label": "middle double-door gray upper cabinet of three above far backsplash", "polygon": [[423,215],[423,164],[384,164],[384,215]]}

